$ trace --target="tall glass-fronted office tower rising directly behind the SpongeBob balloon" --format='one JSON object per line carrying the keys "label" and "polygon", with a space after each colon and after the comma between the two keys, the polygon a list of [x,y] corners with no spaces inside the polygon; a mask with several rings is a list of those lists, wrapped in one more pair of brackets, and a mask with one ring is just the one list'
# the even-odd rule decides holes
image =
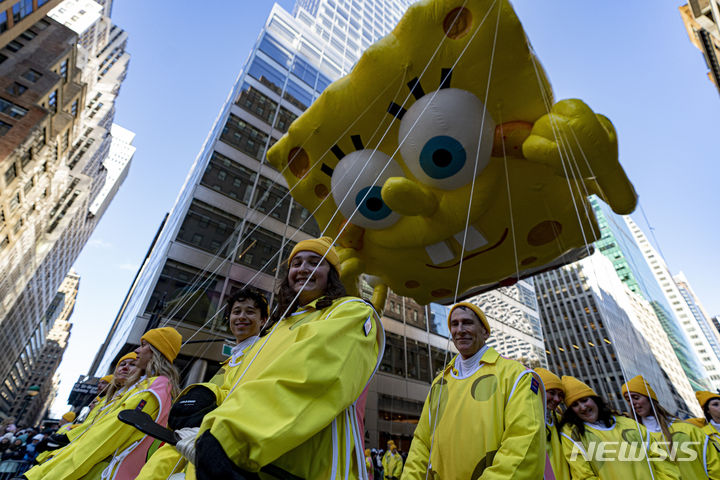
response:
{"label": "tall glass-fronted office tower rising directly behind the SpongeBob balloon", "polygon": [[[321,233],[266,163],[267,149],[410,3],[299,1],[293,14],[273,7],[90,373],[104,375],[147,328],[166,324],[185,339],[208,341],[183,347],[176,364],[185,383],[217,369],[227,345],[214,340],[230,343],[224,299],[245,283],[272,298],[282,259]],[[492,310],[491,341],[502,353],[542,365],[532,289],[519,282],[474,301]],[[385,355],[367,398],[368,445],[392,437],[409,448],[430,382],[454,352],[447,311],[389,293]]]}

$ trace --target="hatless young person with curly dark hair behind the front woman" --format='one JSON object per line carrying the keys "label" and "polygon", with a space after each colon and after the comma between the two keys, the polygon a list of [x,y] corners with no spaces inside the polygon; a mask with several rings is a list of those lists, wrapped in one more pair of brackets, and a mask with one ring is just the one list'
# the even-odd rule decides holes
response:
{"label": "hatless young person with curly dark hair behind the front woman", "polygon": [[[228,297],[225,310],[225,318],[230,332],[235,337],[236,344],[215,376],[207,384],[199,384],[205,387],[212,385],[218,387],[219,391],[216,394],[218,405],[227,395],[227,390],[232,387],[231,382],[234,382],[241,373],[245,352],[258,340],[260,329],[268,319],[268,303],[265,296],[258,290],[245,286]],[[228,384],[229,386],[227,386]],[[223,387],[223,385],[226,386]],[[186,388],[183,394],[191,387]],[[172,417],[172,410],[170,415]],[[166,480],[173,473],[185,472],[187,468],[187,459],[173,445],[163,445],[150,457],[140,471],[137,480]],[[188,476],[191,475],[192,472]]]}

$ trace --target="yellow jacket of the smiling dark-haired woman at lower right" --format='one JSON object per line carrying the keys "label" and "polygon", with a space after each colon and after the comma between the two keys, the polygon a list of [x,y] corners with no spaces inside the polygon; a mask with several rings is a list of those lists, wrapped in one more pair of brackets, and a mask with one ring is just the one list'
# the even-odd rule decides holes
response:
{"label": "yellow jacket of the smiling dark-haired woman at lower right", "polygon": [[[644,426],[619,415],[614,415],[613,419],[610,428],[595,428],[586,424],[582,437],[574,426],[563,427],[563,450],[573,479],[680,478],[677,467],[668,460],[663,447]],[[652,465],[652,474],[648,464]]]}

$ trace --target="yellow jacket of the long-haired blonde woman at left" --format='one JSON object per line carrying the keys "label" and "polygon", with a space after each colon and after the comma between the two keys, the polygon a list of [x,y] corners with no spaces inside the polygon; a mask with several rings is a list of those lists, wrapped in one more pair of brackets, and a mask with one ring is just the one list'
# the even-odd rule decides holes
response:
{"label": "yellow jacket of the long-haired blonde woman at left", "polygon": [[[171,404],[167,377],[141,379],[110,412],[97,418],[91,427],[51,460],[25,472],[28,480],[133,480],[145,462],[153,439],[117,418],[120,410],[142,410],[159,423],[167,422]],[[71,432],[74,432],[74,429]]]}

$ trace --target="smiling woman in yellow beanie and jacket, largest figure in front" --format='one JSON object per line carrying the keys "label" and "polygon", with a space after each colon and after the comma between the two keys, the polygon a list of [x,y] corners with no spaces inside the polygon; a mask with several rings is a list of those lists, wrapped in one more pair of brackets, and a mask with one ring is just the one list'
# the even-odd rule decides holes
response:
{"label": "smiling woman in yellow beanie and jacket, largest figure in front", "polygon": [[246,353],[200,435],[178,443],[198,479],[261,468],[285,471],[281,478],[365,478],[356,402],[382,358],[384,333],[370,304],[345,296],[338,265],[328,237],[293,248],[277,323]]}

